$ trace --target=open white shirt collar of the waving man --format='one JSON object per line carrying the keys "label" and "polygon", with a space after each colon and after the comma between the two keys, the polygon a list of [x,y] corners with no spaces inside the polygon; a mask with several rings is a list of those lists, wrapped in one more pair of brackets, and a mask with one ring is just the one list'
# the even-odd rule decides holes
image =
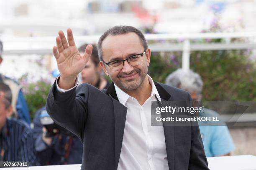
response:
{"label": "open white shirt collar of the waving man", "polygon": [[[152,86],[152,91],[151,91],[151,95],[150,95],[149,98],[153,97],[153,95],[156,95],[157,99],[159,101],[161,101],[160,95],[159,95],[159,93],[158,93],[158,91],[156,89],[156,86],[154,84],[153,79],[149,75],[147,75],[147,76],[148,76],[149,83]],[[115,85],[115,83],[114,83],[114,85]],[[115,85],[115,92],[116,92],[116,95],[118,97],[119,102],[122,105],[125,105],[125,103],[127,102],[128,98],[131,97],[130,95],[125,93],[123,90],[121,90],[117,85]]]}

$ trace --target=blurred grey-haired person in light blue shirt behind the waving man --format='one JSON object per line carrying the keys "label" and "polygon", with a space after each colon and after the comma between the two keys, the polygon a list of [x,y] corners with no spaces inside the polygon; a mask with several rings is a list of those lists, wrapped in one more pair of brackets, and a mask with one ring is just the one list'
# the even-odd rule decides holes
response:
{"label": "blurred grey-haired person in light blue shirt behind the waving man", "polygon": [[[193,101],[200,101],[202,98],[203,82],[199,74],[192,70],[178,69],[166,78],[166,84],[186,90],[190,93]],[[202,115],[218,116],[213,110],[203,108]],[[228,156],[235,149],[232,137],[227,126],[200,125],[200,133],[203,141],[205,155]]]}

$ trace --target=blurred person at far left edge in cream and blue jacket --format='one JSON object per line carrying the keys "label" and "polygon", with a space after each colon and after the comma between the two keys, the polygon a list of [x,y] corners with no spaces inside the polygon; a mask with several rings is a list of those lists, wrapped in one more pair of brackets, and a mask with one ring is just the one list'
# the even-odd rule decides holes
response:
{"label": "blurred person at far left edge in cream and blue jacket", "polygon": [[[3,53],[3,43],[0,41],[0,65],[1,65],[1,62],[3,61],[2,53]],[[30,125],[30,115],[28,112],[28,106],[18,82],[10,79],[9,77],[6,77],[1,73],[0,73],[0,82],[7,84],[10,87],[13,94],[13,101],[12,101],[13,114],[11,114],[11,116],[18,118],[19,120],[23,120],[28,125]]]}

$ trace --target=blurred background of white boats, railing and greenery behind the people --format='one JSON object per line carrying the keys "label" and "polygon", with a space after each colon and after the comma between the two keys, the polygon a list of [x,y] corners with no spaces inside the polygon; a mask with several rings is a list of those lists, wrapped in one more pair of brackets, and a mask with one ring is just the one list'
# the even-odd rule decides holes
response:
{"label": "blurred background of white boats, railing and greenery behind the people", "polygon": [[[0,73],[20,83],[32,120],[58,74],[51,51],[59,30],[71,28],[79,47],[115,25],[131,25],[146,34],[153,80],[164,83],[178,68],[191,69],[202,77],[204,100],[253,108],[255,18],[256,0],[0,1]],[[256,155],[256,109],[238,122],[229,127],[231,155]]]}

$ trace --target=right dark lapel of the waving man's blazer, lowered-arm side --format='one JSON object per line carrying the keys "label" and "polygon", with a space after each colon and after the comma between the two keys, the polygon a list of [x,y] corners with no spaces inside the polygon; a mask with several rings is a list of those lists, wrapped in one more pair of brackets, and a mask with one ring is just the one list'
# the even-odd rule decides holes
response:
{"label": "right dark lapel of the waving man's blazer, lowered-arm side", "polygon": [[[154,82],[156,89],[161,97],[161,101],[168,101],[172,100],[172,96],[162,87],[158,82]],[[162,115],[162,117],[164,117]],[[167,161],[169,170],[174,170],[174,157],[175,157],[175,143],[174,143],[174,126],[165,125],[163,122],[164,127],[164,139],[166,145],[166,154],[167,154]]]}

